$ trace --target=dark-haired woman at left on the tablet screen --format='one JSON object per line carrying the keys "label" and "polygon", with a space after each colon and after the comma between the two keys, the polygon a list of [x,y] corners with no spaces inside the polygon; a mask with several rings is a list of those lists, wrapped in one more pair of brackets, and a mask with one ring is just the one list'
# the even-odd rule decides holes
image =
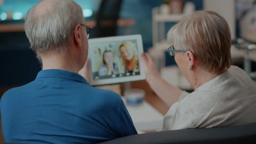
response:
{"label": "dark-haired woman at left on the tablet screen", "polygon": [[118,74],[118,66],[114,63],[114,54],[111,50],[106,50],[103,53],[103,64],[98,69],[98,75],[113,75]]}

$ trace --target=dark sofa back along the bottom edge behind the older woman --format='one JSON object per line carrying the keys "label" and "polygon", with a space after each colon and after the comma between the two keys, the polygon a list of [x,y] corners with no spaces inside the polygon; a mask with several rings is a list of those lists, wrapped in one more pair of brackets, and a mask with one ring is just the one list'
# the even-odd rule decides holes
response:
{"label": "dark sofa back along the bottom edge behind the older woman", "polygon": [[159,131],[121,137],[101,144],[256,144],[256,123],[225,128]]}

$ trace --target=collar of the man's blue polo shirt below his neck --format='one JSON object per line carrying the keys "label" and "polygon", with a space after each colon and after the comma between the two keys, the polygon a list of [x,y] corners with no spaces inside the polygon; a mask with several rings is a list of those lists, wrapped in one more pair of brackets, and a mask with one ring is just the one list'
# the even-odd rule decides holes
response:
{"label": "collar of the man's blue polo shirt below his neck", "polygon": [[61,69],[46,69],[38,72],[36,79],[42,78],[62,78],[62,79],[71,79],[75,81],[80,81],[89,85],[84,77],[75,72],[69,72]]}

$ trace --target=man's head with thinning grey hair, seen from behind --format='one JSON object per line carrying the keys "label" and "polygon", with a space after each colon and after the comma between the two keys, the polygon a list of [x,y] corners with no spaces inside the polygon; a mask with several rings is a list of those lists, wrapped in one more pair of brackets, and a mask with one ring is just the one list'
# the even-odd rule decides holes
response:
{"label": "man's head with thinning grey hair, seen from behind", "polygon": [[82,9],[73,0],[43,0],[27,12],[24,26],[39,60],[49,54],[65,56],[68,49],[76,48],[81,51],[72,53],[84,52],[79,60],[85,62],[88,39],[80,23],[84,23]]}

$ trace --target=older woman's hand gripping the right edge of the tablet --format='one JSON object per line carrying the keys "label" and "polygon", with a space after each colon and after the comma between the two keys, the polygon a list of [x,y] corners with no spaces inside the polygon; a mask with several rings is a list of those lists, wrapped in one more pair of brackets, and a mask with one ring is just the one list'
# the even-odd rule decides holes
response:
{"label": "older woman's hand gripping the right edge of the tablet", "polygon": [[146,73],[146,80],[149,82],[150,79],[158,79],[160,77],[160,74],[151,56],[149,56],[148,53],[144,52],[140,55],[140,59],[143,65],[143,69]]}

